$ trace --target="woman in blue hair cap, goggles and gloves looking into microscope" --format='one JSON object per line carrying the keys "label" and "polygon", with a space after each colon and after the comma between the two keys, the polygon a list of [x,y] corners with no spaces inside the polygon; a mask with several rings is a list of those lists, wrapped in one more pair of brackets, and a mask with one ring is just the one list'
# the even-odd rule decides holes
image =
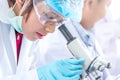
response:
{"label": "woman in blue hair cap, goggles and gloves looking into microscope", "polygon": [[[65,18],[79,16],[83,0],[4,0],[3,4],[9,8],[0,19],[0,80],[79,80],[84,59],[40,65],[38,42]],[[77,9],[71,12],[72,7]]]}

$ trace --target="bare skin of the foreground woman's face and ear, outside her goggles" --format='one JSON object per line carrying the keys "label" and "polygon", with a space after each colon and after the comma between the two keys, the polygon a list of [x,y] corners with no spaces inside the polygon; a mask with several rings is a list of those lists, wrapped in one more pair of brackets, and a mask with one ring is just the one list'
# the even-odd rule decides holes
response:
{"label": "bare skin of the foreground woman's face and ear, outside her goggles", "polygon": [[[19,15],[20,13],[24,12],[24,10],[27,8],[26,6],[29,5],[30,0],[26,0],[24,3],[24,0],[16,0],[16,6],[14,8],[14,12],[16,15]],[[48,13],[46,10],[46,5],[44,2],[41,2],[39,5],[39,11],[40,14]],[[49,13],[52,17],[54,17],[54,14]],[[29,16],[28,16],[29,15]],[[57,15],[55,19],[62,19],[61,16]],[[53,33],[55,30],[56,21],[51,20],[48,21],[47,24],[43,25],[41,21],[39,20],[39,17],[37,16],[34,8],[30,11],[30,13],[26,13],[23,15],[22,20],[22,30],[23,34],[31,41],[41,39],[44,36],[46,36],[48,33]]]}

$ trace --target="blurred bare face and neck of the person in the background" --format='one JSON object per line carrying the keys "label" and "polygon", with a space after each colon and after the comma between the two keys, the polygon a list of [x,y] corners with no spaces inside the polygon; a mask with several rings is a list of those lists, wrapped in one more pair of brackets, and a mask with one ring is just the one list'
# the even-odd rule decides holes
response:
{"label": "blurred bare face and neck of the person in the background", "polygon": [[91,29],[98,20],[105,16],[110,1],[111,0],[86,0],[80,24],[87,30]]}

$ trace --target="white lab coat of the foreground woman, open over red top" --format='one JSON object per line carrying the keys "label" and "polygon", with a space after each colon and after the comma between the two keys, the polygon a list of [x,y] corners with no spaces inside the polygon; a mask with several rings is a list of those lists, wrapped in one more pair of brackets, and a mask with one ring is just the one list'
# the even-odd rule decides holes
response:
{"label": "white lab coat of the foreground woman, open over red top", "polygon": [[36,68],[40,66],[40,54],[37,46],[37,41],[31,42],[23,36],[17,65],[15,31],[0,22],[0,80],[38,80]]}

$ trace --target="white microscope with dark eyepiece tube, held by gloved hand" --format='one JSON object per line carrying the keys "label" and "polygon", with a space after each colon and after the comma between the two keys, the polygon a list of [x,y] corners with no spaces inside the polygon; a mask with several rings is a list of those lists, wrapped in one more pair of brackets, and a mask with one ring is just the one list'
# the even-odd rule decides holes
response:
{"label": "white microscope with dark eyepiece tube, held by gloved hand", "polygon": [[[76,37],[69,32],[65,24],[62,24],[59,28],[60,32],[63,34],[67,40],[67,48],[71,54],[76,58],[84,58],[84,74],[80,80],[83,80],[85,77],[91,77],[95,80],[102,80],[101,73],[107,68],[110,68],[110,63],[105,61],[101,56],[96,56],[92,58],[89,54],[90,51],[85,46],[85,44],[78,40]],[[93,79],[91,79],[93,80]]]}

